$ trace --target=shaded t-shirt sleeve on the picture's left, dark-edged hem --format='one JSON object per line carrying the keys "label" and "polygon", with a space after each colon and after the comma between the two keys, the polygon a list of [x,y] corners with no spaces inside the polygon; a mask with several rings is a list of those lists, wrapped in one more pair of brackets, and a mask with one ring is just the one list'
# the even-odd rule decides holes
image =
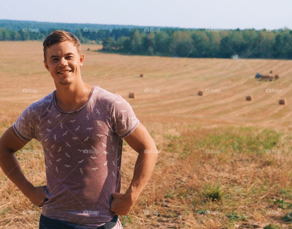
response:
{"label": "shaded t-shirt sleeve on the picture's left, dark-edged hem", "polygon": [[25,141],[35,138],[35,124],[33,119],[33,103],[20,114],[13,123],[16,134]]}

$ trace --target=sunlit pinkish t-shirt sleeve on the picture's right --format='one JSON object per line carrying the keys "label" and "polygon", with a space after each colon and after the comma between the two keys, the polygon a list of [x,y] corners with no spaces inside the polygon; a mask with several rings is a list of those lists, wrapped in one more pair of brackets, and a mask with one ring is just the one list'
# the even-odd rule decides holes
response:
{"label": "sunlit pinkish t-shirt sleeve on the picture's right", "polygon": [[113,104],[112,110],[112,128],[113,131],[120,137],[125,138],[131,134],[138,126],[137,119],[130,103],[118,95]]}

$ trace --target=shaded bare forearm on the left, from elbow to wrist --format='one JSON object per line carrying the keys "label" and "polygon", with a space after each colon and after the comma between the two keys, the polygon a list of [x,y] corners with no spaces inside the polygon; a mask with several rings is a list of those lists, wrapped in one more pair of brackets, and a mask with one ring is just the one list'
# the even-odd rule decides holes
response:
{"label": "shaded bare forearm on the left, from elbow to wrist", "polygon": [[12,151],[0,149],[0,167],[5,175],[20,189],[26,196],[29,189],[33,187],[23,174],[19,162]]}

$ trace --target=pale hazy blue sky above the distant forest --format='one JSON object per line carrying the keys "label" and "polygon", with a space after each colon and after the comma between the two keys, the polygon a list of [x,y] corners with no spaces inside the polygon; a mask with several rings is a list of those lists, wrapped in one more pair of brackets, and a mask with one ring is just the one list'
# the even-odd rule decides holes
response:
{"label": "pale hazy blue sky above the distant forest", "polygon": [[292,29],[291,0],[4,1],[0,19],[212,29]]}

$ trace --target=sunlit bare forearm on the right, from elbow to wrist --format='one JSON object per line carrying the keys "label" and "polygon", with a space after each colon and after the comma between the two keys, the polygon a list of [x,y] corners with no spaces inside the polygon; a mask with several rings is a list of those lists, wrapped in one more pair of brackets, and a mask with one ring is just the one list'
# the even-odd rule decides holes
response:
{"label": "sunlit bare forearm on the right, from elbow to wrist", "polygon": [[145,150],[139,153],[134,168],[133,179],[126,192],[126,194],[131,196],[133,201],[138,199],[138,196],[150,179],[157,157],[158,151],[156,147],[155,149],[147,150],[146,153]]}

